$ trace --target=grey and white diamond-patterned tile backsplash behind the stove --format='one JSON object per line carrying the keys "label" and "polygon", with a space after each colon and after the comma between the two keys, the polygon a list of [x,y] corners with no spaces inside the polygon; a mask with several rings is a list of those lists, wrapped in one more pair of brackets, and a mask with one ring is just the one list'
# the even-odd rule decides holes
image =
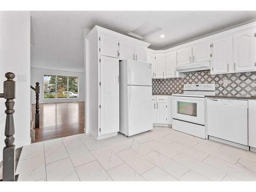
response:
{"label": "grey and white diamond-patterned tile backsplash behind the stove", "polygon": [[210,75],[210,71],[200,71],[187,73],[184,78],[152,79],[152,92],[183,93],[183,84],[191,83],[216,83],[216,94],[220,96],[256,96],[256,72]]}

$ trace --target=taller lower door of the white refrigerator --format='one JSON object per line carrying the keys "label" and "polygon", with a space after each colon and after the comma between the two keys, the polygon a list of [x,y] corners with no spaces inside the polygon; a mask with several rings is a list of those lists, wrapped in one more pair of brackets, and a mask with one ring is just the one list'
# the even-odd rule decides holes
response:
{"label": "taller lower door of the white refrigerator", "polygon": [[153,129],[152,87],[127,86],[128,134],[142,133]]}

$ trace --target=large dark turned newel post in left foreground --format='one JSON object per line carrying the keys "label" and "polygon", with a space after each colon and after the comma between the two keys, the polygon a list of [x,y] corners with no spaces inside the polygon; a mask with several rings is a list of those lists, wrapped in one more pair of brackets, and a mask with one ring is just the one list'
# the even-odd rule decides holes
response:
{"label": "large dark turned newel post in left foreground", "polygon": [[4,81],[4,93],[1,94],[6,99],[6,123],[5,123],[5,147],[3,150],[3,181],[14,181],[15,179],[15,145],[14,143],[14,101],[15,98],[15,81],[14,73],[6,73],[7,78]]}

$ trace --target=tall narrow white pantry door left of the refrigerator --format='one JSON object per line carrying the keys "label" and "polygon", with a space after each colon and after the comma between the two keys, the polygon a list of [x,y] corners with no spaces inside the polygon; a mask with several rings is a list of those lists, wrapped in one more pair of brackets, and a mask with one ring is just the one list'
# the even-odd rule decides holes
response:
{"label": "tall narrow white pantry door left of the refrigerator", "polygon": [[119,60],[101,56],[99,135],[119,131]]}

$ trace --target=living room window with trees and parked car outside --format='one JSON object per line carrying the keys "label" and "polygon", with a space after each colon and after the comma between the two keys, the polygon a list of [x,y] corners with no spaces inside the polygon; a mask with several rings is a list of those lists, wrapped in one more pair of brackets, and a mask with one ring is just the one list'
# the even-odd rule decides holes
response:
{"label": "living room window with trees and parked car outside", "polygon": [[78,98],[78,77],[45,75],[44,98]]}

